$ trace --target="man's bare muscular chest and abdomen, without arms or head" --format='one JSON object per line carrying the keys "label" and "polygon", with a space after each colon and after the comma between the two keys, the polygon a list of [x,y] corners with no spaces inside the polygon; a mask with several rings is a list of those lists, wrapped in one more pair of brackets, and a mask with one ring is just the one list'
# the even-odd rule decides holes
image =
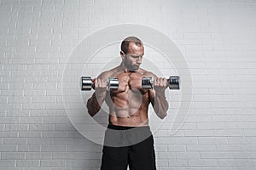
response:
{"label": "man's bare muscular chest and abdomen, without arms or head", "polygon": [[150,76],[148,71],[108,71],[108,76],[119,79],[119,88],[110,90],[106,97],[109,107],[109,123],[138,127],[148,125],[149,90],[142,88],[142,78]]}

